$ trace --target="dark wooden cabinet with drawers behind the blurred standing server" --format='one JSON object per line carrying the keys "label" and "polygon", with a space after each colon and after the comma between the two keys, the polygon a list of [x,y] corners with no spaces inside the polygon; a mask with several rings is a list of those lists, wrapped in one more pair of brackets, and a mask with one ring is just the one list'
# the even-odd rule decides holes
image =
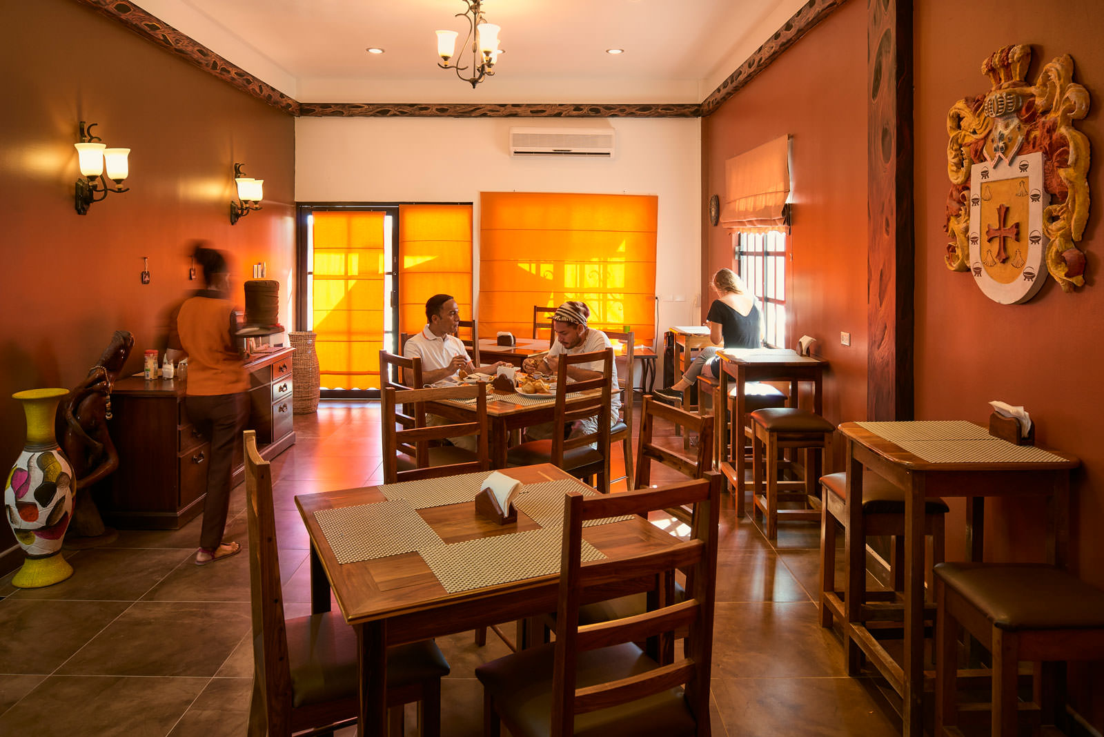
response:
{"label": "dark wooden cabinet with drawers behind the blurred standing server", "polygon": [[[295,442],[291,419],[291,352],[284,348],[246,364],[250,419],[261,455],[270,459]],[[112,393],[112,439],[119,468],[104,517],[118,527],[176,530],[203,510],[211,449],[184,412],[187,381],[147,382],[129,376]],[[240,458],[238,458],[240,461]],[[235,463],[234,483],[242,480]]]}

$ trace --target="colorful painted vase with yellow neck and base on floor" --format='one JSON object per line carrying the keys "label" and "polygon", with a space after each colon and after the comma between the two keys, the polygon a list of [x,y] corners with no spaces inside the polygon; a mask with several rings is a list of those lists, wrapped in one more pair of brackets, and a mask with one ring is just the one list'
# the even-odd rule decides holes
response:
{"label": "colorful painted vase with yellow neck and base on floor", "polygon": [[11,579],[20,588],[41,588],[73,575],[61,555],[73,519],[73,468],[54,437],[57,403],[68,389],[28,389],[11,396],[23,403],[26,442],[3,490],[8,524],[26,554]]}

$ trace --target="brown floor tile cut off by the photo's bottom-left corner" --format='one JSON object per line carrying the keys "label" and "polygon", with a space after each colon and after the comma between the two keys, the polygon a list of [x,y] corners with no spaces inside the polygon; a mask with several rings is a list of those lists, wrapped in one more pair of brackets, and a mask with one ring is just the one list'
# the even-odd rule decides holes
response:
{"label": "brown floor tile cut off by the photo's bottom-left corner", "polygon": [[169,734],[206,683],[208,679],[52,675],[0,716],[0,735],[160,737]]}

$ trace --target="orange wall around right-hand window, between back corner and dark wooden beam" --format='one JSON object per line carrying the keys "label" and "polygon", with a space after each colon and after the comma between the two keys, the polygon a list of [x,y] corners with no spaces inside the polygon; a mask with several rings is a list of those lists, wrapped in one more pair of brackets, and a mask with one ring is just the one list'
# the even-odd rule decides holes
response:
{"label": "orange wall around right-hand window, between back corner and dark wooden beam", "polygon": [[[830,362],[825,415],[836,423],[867,410],[866,18],[864,3],[842,6],[702,121],[705,197],[724,197],[726,159],[793,137],[787,334],[789,348],[813,335]],[[707,223],[702,243],[709,295],[713,273],[733,265],[732,238]]]}

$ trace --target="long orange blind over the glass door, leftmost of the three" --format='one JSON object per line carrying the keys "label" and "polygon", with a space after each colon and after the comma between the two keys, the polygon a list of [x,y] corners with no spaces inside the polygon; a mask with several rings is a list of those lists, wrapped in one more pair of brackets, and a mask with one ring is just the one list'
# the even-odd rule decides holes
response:
{"label": "long orange blind over the glass door, leftmost of the three", "polygon": [[379,388],[383,213],[314,214],[314,330],[323,388]]}

